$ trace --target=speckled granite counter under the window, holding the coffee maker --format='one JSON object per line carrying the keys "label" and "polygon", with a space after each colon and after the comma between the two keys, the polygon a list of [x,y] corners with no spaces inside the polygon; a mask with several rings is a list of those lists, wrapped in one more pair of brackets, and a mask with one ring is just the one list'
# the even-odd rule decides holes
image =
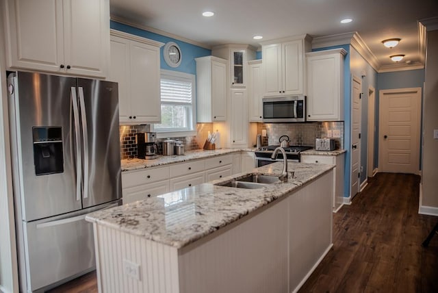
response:
{"label": "speckled granite counter under the window, holding the coffee maker", "polygon": [[185,155],[159,155],[157,159],[153,160],[121,160],[122,172],[131,170],[140,170],[144,168],[151,168],[157,166],[164,166],[168,164],[175,164],[187,162],[190,160],[205,159],[207,157],[215,157],[218,155],[227,155],[228,153],[239,153],[240,151],[254,151],[254,149],[216,149],[214,151],[205,151],[199,149],[197,151],[185,152]]}

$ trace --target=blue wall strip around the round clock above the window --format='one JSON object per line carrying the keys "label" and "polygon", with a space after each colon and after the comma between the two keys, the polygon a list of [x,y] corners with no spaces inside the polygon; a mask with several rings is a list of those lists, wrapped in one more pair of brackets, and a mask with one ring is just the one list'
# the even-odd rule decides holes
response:
{"label": "blue wall strip around the round clock above the window", "polygon": [[194,44],[189,44],[188,42],[182,42],[181,40],[175,40],[174,38],[169,38],[167,36],[151,33],[150,31],[144,31],[143,29],[138,29],[136,27],[131,27],[129,25],[123,25],[122,23],[116,23],[115,21],[111,21],[110,27],[118,31],[123,31],[128,34],[141,36],[143,38],[149,38],[151,40],[156,40],[158,42],[164,42],[164,43],[176,42],[181,48],[182,56],[183,56],[181,60],[181,65],[178,66],[177,68],[170,67],[166,64],[163,58],[163,47],[160,50],[161,68],[169,71],[179,71],[183,73],[190,73],[192,75],[196,75],[196,62],[194,61],[194,58],[211,55],[211,50],[209,49],[198,47]]}

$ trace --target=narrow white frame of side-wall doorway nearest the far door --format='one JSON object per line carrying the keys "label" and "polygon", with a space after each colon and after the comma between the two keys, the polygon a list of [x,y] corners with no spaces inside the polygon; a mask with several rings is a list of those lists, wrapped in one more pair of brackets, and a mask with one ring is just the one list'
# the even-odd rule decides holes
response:
{"label": "narrow white frame of side-wall doorway nearest the far door", "polygon": [[376,89],[368,87],[368,157],[367,176],[374,177],[377,169],[374,170],[374,143],[376,138]]}

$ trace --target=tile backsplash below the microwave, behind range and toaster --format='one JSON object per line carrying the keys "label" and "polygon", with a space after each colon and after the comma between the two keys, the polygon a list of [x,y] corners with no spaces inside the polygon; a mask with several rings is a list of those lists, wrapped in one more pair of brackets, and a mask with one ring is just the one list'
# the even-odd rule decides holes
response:
{"label": "tile backsplash below the microwave, behind range and toaster", "polygon": [[329,130],[339,130],[340,138],[336,141],[337,149],[344,149],[344,121],[314,123],[257,123],[257,133],[266,129],[263,145],[280,144],[281,136],[289,136],[289,144],[315,147],[315,138],[325,138]]}

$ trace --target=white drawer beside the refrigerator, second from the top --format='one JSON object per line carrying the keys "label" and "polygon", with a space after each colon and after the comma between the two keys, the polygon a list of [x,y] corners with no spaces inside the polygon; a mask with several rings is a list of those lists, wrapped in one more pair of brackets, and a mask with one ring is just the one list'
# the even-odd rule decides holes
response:
{"label": "white drawer beside the refrigerator, second from the top", "polygon": [[169,190],[168,180],[145,184],[142,186],[124,188],[122,190],[123,204],[125,205],[125,203],[133,203],[134,201],[141,201],[151,196],[157,196],[169,191],[170,190]]}

